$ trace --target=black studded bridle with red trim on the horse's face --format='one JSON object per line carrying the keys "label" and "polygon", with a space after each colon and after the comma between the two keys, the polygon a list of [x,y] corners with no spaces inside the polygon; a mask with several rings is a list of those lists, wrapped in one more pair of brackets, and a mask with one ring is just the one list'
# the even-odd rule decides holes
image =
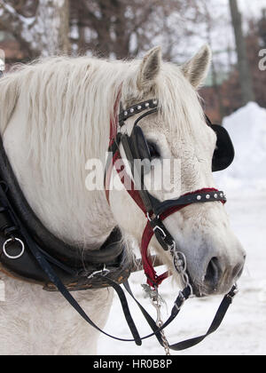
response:
{"label": "black studded bridle with red trim on the horse's face", "polygon": [[[117,108],[118,101],[116,101],[114,110]],[[114,169],[120,176],[121,183],[126,188],[130,197],[137,203],[137,206],[142,210],[147,219],[144,233],[141,240],[141,255],[142,262],[147,277],[147,283],[153,288],[157,288],[160,283],[168,277],[168,272],[157,275],[151,258],[147,254],[149,243],[155,235],[157,241],[163,250],[168,251],[172,257],[174,267],[179,274],[183,274],[184,284],[190,287],[192,295],[192,285],[189,282],[189,275],[186,274],[186,260],[184,253],[176,250],[176,242],[172,234],[169,233],[168,229],[163,223],[163,220],[174,214],[176,211],[184,209],[192,203],[202,202],[226,202],[223,191],[218,191],[215,188],[202,188],[197,191],[193,191],[176,199],[160,202],[145,188],[144,181],[142,179],[141,171],[136,171],[134,167],[134,161],[144,161],[148,159],[149,149],[145,141],[145,137],[138,123],[148,115],[153,115],[158,111],[158,100],[149,99],[145,102],[141,102],[132,107],[128,107],[126,110],[121,110],[118,116],[118,126],[111,120],[110,123],[110,143],[108,148],[109,158],[106,164],[106,198],[109,202],[109,183],[110,174]],[[129,136],[126,133],[121,133],[121,128],[125,125],[125,122],[132,116],[138,115],[133,125],[133,130]],[[113,115],[115,118],[115,115]],[[116,119],[114,119],[115,121]],[[132,179],[128,173],[121,172],[125,170],[125,164],[121,159],[120,147],[123,147],[127,161],[129,163]],[[117,160],[120,160],[119,164]],[[129,187],[128,187],[129,186]],[[138,186],[136,188],[136,186]]]}

